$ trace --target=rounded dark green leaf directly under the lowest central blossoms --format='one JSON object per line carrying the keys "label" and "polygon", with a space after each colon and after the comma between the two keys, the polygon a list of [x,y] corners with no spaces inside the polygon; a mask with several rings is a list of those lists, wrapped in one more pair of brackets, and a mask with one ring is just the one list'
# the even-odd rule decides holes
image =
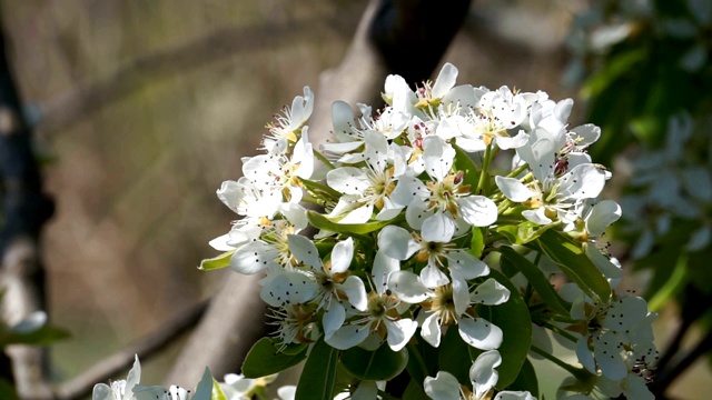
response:
{"label": "rounded dark green leaf directly under the lowest central blossoms", "polygon": [[360,380],[390,380],[403,372],[407,363],[408,351],[406,349],[393,351],[386,342],[376,351],[355,347],[342,354],[344,369]]}

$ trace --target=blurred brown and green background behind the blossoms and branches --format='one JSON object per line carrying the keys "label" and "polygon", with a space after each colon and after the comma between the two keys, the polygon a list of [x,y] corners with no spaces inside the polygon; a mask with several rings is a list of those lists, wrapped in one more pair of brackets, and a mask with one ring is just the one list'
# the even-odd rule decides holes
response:
{"label": "blurred brown and green background behind the blossoms and branches", "polygon": [[[593,159],[615,177],[607,196],[634,216],[619,222],[612,249],[626,271],[622,288],[660,312],[659,348],[680,336],[684,356],[710,321],[710,272],[698,271],[712,268],[712,10],[669,3],[475,1],[441,63],[457,66],[461,83],[571,97],[572,126],[603,127]],[[50,348],[53,382],[155,332],[233,273],[196,268],[234,219],[215,190],[239,178],[240,158],[305,84],[318,98],[320,74],[342,62],[366,6],[0,2],[6,53],[56,202],[41,241],[47,303],[71,337]],[[654,187],[663,176],[666,186]],[[700,310],[681,317],[691,304]],[[160,382],[181,343],[144,360],[142,380]],[[671,398],[706,398],[709,354],[692,361]]]}

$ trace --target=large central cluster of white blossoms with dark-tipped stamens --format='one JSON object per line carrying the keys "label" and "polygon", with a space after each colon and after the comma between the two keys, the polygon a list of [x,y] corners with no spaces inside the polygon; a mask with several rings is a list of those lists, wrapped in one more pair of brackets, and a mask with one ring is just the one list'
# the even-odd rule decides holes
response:
{"label": "large central cluster of white blossoms with dark-tipped stamens", "polygon": [[[338,351],[385,343],[400,352],[421,339],[438,349],[446,332],[456,330],[474,351],[473,370],[492,373],[492,363],[477,367],[485,361],[474,354],[500,359],[503,342],[518,340],[496,318],[497,307],[513,297],[517,302],[508,307],[523,308],[537,324],[551,316],[532,311],[542,302],[556,302],[571,312],[566,318],[600,319],[599,311],[576,314],[581,303],[560,298],[537,266],[542,258],[557,264],[589,300],[613,301],[620,264],[601,237],[621,210],[614,201],[596,201],[611,173],[586,153],[600,129],[570,128],[570,99],[455,86],[456,77],[457,69],[446,63],[435,82],[412,90],[402,77],[389,76],[386,106],[377,112],[358,104],[356,114],[335,102],[334,139],[318,147],[308,136],[314,94],[305,88],[267,126],[264,153],[244,158],[243,178],[217,191],[240,219],[210,242],[226,253],[202,268],[229,264],[239,273],[264,273],[260,296],[274,309],[280,350],[324,341]],[[511,169],[495,171],[497,157]],[[523,254],[514,264],[528,289],[516,291],[507,280],[513,273],[491,269],[497,252],[514,253],[515,260]],[[582,266],[568,264],[572,260]],[[607,310],[633,307],[633,300],[622,301]],[[635,321],[640,307],[646,312],[635,300]],[[606,339],[632,351],[614,360],[614,373],[600,357],[613,350]],[[578,341],[577,354],[590,373],[621,383],[633,371],[629,359],[642,356],[642,340],[613,328],[591,331]],[[626,373],[619,373],[621,363],[630,367]],[[427,392],[454,379],[443,371],[418,384]]]}

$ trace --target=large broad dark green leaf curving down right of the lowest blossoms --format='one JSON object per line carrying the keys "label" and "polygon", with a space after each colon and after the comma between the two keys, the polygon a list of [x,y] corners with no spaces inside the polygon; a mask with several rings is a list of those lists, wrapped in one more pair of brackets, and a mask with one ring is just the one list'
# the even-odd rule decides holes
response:
{"label": "large broad dark green leaf curving down right of the lowest blossoms", "polygon": [[[496,270],[490,271],[490,277],[510,289],[510,300],[500,306],[477,306],[477,313],[502,329],[504,338],[500,346],[502,364],[497,367],[500,380],[496,388],[502,390],[516,379],[526,360],[532,346],[532,319],[530,310],[520,294],[520,290]],[[471,358],[474,360],[482,350],[469,347]]]}

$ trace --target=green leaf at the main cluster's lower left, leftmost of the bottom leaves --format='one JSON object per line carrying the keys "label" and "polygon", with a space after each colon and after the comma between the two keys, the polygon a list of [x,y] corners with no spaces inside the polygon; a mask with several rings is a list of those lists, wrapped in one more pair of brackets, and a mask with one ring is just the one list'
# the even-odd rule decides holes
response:
{"label": "green leaf at the main cluster's lower left, leftmost of the bottom leaves", "polygon": [[287,354],[279,352],[276,339],[261,338],[253,346],[243,363],[246,378],[260,378],[281,372],[307,358],[306,347],[300,352]]}

